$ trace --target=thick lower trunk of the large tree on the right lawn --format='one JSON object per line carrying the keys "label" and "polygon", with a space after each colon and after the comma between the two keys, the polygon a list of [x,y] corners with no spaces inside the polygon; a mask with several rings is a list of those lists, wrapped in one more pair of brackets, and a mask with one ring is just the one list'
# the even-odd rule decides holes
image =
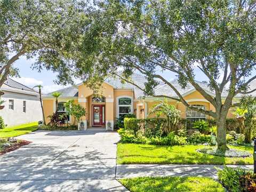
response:
{"label": "thick lower trunk of the large tree on the right lawn", "polygon": [[216,119],[216,124],[218,149],[226,150],[228,149],[226,140],[226,115],[221,113],[220,117]]}

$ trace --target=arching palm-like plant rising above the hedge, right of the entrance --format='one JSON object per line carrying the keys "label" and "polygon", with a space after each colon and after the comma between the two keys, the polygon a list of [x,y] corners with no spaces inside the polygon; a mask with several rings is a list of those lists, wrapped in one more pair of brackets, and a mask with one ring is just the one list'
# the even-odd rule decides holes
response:
{"label": "arching palm-like plant rising above the hedge, right of the entrance", "polygon": [[173,105],[170,105],[167,101],[162,101],[150,109],[149,114],[155,114],[157,117],[165,116],[167,119],[166,130],[163,130],[166,134],[177,131],[177,126],[180,119],[180,111]]}

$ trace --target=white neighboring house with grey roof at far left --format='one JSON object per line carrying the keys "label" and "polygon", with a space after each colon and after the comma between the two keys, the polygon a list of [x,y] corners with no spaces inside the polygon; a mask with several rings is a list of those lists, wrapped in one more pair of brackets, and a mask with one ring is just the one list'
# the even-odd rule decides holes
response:
{"label": "white neighboring house with grey roof at far left", "polygon": [[1,99],[5,101],[5,107],[0,110],[0,116],[5,124],[12,126],[42,120],[39,94],[35,90],[8,77],[1,90],[4,92]]}

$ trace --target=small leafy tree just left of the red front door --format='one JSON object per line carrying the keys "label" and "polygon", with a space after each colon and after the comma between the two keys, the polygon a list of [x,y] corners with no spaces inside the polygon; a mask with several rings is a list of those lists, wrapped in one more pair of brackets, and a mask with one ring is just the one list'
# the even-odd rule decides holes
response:
{"label": "small leafy tree just left of the red front door", "polygon": [[76,124],[76,121],[80,123],[82,120],[81,118],[86,115],[86,109],[81,105],[79,105],[78,103],[76,103],[73,99],[67,101],[64,104],[64,106],[65,106],[67,115],[71,115],[75,118],[73,125]]}

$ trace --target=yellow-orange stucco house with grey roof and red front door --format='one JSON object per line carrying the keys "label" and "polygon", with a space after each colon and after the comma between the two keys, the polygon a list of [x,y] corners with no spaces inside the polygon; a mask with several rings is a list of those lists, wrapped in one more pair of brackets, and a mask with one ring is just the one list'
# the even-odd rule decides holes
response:
{"label": "yellow-orange stucco house with grey roof and red front door", "polygon": [[[133,74],[132,80],[140,87],[143,87],[146,81],[145,77],[139,74]],[[197,92],[191,84],[188,84],[186,89],[182,89],[177,80],[173,80],[171,83],[179,90],[190,105],[214,111],[214,107],[211,103]],[[207,86],[206,83],[197,83],[200,84],[205,91],[214,96],[214,93],[209,89],[209,86]],[[149,114],[150,108],[157,102],[164,100],[164,98],[158,97],[144,97],[143,92],[138,89],[138,87],[129,83],[122,84],[118,78],[114,77],[108,78],[102,84],[100,91],[102,93],[101,97],[95,97],[93,91],[83,83],[58,90],[58,92],[61,93],[61,96],[58,99],[59,112],[65,112],[63,103],[69,99],[74,99],[81,106],[86,108],[87,115],[83,118],[85,129],[88,126],[103,126],[106,127],[107,130],[113,130],[115,119],[123,117],[126,114],[135,114],[139,119],[154,117],[154,114]],[[56,110],[55,98],[52,97],[51,94],[52,93],[46,94],[43,97],[45,117],[52,115]],[[223,91],[222,97],[225,98],[226,94],[227,93]],[[163,83],[160,83],[156,87],[155,95],[167,95],[178,98],[178,95],[175,94],[170,86]],[[238,95],[235,100],[238,101],[240,97],[241,95]],[[191,111],[181,102],[172,99],[167,99],[167,101],[180,110],[181,118],[186,118],[190,121],[210,118],[196,111]],[[233,118],[234,115],[229,111],[227,117]],[[69,123],[72,123],[73,121],[73,117],[69,117]],[[49,123],[49,118],[46,119],[46,123]]]}

